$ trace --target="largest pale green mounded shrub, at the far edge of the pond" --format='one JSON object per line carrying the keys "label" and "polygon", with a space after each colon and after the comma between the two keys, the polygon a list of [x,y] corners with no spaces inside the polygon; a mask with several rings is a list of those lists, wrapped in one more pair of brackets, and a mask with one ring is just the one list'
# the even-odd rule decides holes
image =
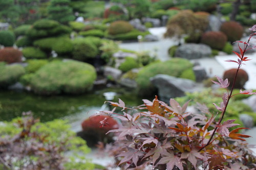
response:
{"label": "largest pale green mounded shrub, at the far edge of the pond", "polygon": [[96,70],[88,63],[53,61],[35,72],[30,85],[38,94],[79,94],[91,90],[95,80]]}

